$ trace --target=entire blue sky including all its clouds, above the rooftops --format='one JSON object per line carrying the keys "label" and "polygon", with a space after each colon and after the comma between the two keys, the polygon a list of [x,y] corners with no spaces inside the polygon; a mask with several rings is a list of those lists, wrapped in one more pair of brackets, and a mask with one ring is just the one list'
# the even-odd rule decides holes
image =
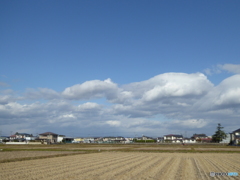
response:
{"label": "entire blue sky including all its clouds, above the rooftops", "polygon": [[[1,1],[0,130],[211,135],[218,122],[235,130],[239,7],[221,0]],[[189,113],[189,106],[209,109]]]}

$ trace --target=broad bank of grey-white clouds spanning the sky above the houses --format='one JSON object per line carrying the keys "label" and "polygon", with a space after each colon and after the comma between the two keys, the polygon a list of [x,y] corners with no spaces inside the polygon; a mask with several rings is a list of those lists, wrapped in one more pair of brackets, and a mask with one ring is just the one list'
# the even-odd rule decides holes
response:
{"label": "broad bank of grey-white clouds spanning the sky above the houses", "polygon": [[[224,125],[226,119],[234,127],[240,118],[240,75],[217,86],[201,73],[165,73],[121,87],[107,79],[86,81],[62,93],[48,88],[28,89],[21,98],[11,90],[1,93],[0,124],[8,131],[10,124],[16,125],[14,129],[19,124],[19,129],[75,130],[85,135],[114,129],[119,135],[160,136],[186,129],[204,132],[213,123]],[[94,102],[97,98],[106,98],[108,104]],[[93,102],[76,104],[84,99]],[[164,122],[156,117],[164,117]]]}

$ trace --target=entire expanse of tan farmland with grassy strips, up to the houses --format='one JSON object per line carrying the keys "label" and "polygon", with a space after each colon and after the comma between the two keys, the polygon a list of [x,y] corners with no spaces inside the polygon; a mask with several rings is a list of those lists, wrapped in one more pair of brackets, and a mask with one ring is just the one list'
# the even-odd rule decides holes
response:
{"label": "entire expanse of tan farmland with grassy strips, up to the houses", "polygon": [[[240,148],[226,145],[0,145],[0,179],[213,179],[240,172]],[[238,179],[221,176],[220,179]]]}

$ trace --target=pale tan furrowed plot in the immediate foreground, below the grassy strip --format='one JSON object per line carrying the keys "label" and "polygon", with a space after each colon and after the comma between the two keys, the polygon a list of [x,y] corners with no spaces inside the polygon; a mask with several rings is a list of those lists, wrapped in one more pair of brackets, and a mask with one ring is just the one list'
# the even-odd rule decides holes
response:
{"label": "pale tan furrowed plot in the immediate foreground, below the grassy strip", "polygon": [[[15,152],[16,153],[16,152]],[[240,173],[238,153],[100,152],[0,164],[4,180],[198,180],[239,179],[209,175]]]}

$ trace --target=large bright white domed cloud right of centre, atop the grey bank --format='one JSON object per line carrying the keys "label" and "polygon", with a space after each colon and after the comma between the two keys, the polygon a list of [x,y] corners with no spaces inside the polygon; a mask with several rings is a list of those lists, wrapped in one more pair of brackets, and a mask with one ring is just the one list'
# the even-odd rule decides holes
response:
{"label": "large bright white domed cloud right of centre, atop the grey bank", "polygon": [[136,97],[155,100],[161,97],[201,95],[213,85],[204,74],[165,73],[149,80],[124,86]]}

